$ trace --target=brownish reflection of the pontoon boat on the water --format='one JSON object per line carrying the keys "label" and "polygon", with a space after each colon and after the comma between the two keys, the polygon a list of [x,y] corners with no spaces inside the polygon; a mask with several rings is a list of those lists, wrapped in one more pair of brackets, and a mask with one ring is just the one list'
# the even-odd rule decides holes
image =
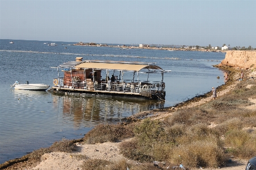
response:
{"label": "brownish reflection of the pontoon boat on the water", "polygon": [[142,111],[163,108],[164,101],[135,99],[131,97],[105,97],[89,95],[53,94],[53,107],[62,109],[65,120],[73,121],[75,127],[99,123],[120,122]]}

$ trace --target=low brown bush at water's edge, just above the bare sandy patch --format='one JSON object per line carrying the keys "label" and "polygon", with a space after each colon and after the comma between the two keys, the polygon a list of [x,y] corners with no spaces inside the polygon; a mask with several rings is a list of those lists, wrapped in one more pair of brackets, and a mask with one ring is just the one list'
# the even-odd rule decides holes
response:
{"label": "low brown bush at water's edge, just above the bare sandy patch", "polygon": [[125,138],[134,137],[134,133],[129,126],[122,125],[97,125],[84,137],[84,142],[88,144],[117,142]]}

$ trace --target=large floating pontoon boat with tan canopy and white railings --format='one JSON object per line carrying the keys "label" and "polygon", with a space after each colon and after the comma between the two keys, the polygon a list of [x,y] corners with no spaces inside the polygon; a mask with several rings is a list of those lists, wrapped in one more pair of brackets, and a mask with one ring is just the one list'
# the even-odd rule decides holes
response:
{"label": "large floating pontoon boat with tan canopy and white railings", "polygon": [[[58,77],[53,79],[53,92],[132,96],[159,100],[164,100],[166,96],[163,75],[170,72],[156,66],[155,63],[82,61],[82,57],[54,68],[57,69]],[[60,70],[64,73],[64,77],[60,77]],[[110,73],[112,78],[109,77]],[[158,82],[148,80],[150,74],[157,73],[160,74],[157,78],[162,79]],[[146,74],[146,80],[139,80],[140,74]]]}

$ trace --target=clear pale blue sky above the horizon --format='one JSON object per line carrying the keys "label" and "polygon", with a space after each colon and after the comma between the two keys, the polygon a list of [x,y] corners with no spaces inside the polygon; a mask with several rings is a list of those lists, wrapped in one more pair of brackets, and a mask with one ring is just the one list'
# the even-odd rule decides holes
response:
{"label": "clear pale blue sky above the horizon", "polygon": [[256,1],[0,0],[0,39],[256,48]]}

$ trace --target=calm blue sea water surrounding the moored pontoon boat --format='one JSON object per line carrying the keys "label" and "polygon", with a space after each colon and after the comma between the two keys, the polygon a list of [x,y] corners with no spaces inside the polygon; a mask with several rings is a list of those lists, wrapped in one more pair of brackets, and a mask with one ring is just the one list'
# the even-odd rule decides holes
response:
{"label": "calm blue sea water surrounding the moored pontoon boat", "polygon": [[[118,122],[140,111],[170,107],[224,83],[224,73],[212,66],[225,58],[223,53],[69,45],[76,42],[48,46],[44,42],[0,40],[0,164],[48,147],[62,138],[82,138],[97,124]],[[15,80],[52,86],[57,70],[51,67],[75,61],[76,57],[156,62],[163,69],[172,70],[164,75],[166,101],[61,96],[10,88]]]}

